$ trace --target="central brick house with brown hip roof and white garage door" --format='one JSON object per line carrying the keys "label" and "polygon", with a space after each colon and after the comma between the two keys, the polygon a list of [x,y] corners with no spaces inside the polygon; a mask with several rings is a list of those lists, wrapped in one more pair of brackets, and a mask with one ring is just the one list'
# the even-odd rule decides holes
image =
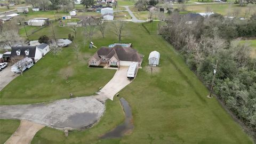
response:
{"label": "central brick house with brown hip roof and white garage door", "polygon": [[116,45],[114,47],[101,47],[90,59],[88,64],[99,66],[106,63],[108,66],[130,66],[133,62],[141,66],[143,55],[131,47]]}

